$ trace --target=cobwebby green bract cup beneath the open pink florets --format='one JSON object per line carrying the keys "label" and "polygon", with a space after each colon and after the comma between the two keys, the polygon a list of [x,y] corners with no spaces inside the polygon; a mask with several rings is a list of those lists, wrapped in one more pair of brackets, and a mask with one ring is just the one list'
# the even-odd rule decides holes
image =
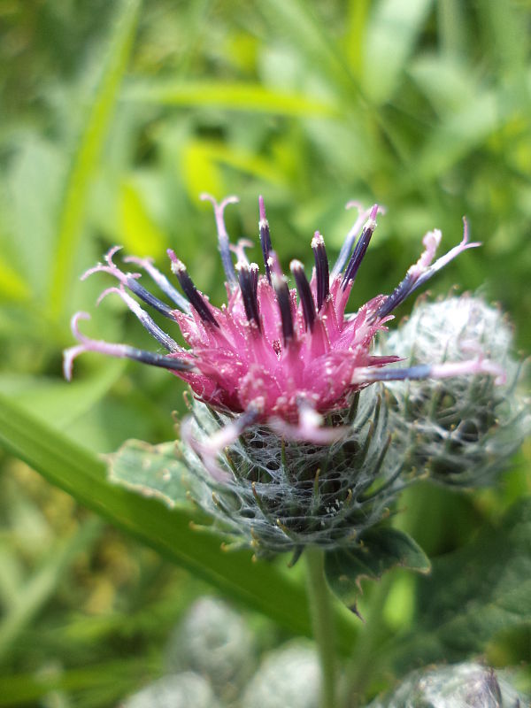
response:
{"label": "cobwebby green bract cup beneath the open pink florets", "polygon": [[[227,417],[194,402],[192,435],[206,442]],[[389,514],[404,481],[403,460],[390,445],[381,389],[363,390],[350,410],[335,414],[340,440],[330,445],[285,441],[266,425],[248,428],[218,456],[218,480],[188,445],[183,455],[199,481],[192,496],[205,512],[258,555],[353,545]],[[385,459],[385,473],[382,466]]]}

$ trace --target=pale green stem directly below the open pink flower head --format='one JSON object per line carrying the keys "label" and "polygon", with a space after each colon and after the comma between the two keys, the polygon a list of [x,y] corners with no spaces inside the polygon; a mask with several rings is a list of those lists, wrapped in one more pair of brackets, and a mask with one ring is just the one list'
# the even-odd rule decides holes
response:
{"label": "pale green stem directly below the open pink flower head", "polygon": [[331,595],[325,579],[325,553],[315,546],[308,546],[304,556],[313,636],[322,673],[321,708],[335,708],[335,631]]}

